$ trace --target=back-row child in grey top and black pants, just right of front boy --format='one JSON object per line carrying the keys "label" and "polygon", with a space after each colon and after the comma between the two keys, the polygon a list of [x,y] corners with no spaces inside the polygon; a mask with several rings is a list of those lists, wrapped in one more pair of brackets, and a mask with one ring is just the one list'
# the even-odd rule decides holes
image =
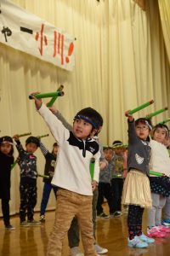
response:
{"label": "back-row child in grey top and black pants, just right of front boy", "polygon": [[99,218],[109,218],[107,214],[105,214],[102,204],[103,199],[105,196],[105,199],[108,202],[109,209],[110,209],[110,215],[113,214],[113,196],[111,193],[111,171],[114,167],[113,164],[113,150],[112,148],[104,148],[104,154],[105,154],[105,160],[108,161],[108,165],[105,167],[104,170],[99,172],[99,196],[98,196],[98,202],[97,202],[97,216]]}

